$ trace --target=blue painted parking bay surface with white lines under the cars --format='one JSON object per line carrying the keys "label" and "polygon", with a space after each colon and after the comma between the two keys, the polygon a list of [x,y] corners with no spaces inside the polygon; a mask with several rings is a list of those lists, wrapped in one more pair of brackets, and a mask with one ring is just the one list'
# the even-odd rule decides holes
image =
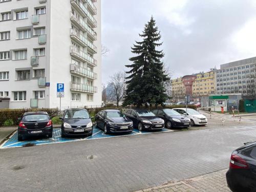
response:
{"label": "blue painted parking bay surface with white lines under the cars", "polygon": [[9,140],[4,142],[0,148],[10,148],[10,147],[23,147],[27,144],[30,145],[41,145],[41,144],[50,144],[50,143],[62,143],[62,142],[72,142],[72,141],[82,141],[82,140],[90,140],[90,139],[100,139],[100,138],[110,138],[110,137],[121,137],[121,136],[129,136],[129,135],[140,135],[140,134],[151,134],[151,133],[161,133],[161,132],[173,132],[173,130],[162,129],[154,132],[140,132],[137,129],[134,129],[132,133],[124,133],[124,134],[112,134],[105,135],[104,132],[98,127],[94,127],[93,135],[86,138],[81,137],[72,137],[72,138],[61,138],[61,129],[53,129],[53,137],[52,138],[42,138],[36,137],[35,139],[29,139],[25,141],[18,141],[18,134],[15,132]]}

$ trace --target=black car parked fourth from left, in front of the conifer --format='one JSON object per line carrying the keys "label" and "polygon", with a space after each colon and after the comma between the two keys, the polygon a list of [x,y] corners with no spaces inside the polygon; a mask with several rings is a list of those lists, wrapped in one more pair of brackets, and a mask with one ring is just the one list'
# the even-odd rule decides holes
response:
{"label": "black car parked fourth from left, in front of the conifer", "polygon": [[134,126],[139,131],[161,130],[164,128],[164,120],[148,110],[127,110],[125,116],[133,121]]}

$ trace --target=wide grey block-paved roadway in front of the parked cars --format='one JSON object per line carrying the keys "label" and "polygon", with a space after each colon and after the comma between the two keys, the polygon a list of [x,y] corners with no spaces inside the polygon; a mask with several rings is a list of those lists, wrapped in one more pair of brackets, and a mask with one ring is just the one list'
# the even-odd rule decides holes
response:
{"label": "wide grey block-paved roadway in front of the parked cars", "polygon": [[192,129],[1,149],[0,191],[136,191],[228,168],[231,152],[256,140],[249,123]]}

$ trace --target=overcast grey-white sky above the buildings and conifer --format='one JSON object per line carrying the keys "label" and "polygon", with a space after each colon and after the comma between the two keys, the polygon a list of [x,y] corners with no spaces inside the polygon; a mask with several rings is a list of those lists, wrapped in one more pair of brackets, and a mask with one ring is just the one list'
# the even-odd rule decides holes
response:
{"label": "overcast grey-white sky above the buildings and conifer", "polygon": [[256,56],[255,0],[102,0],[102,82],[130,63],[154,16],[172,78]]}

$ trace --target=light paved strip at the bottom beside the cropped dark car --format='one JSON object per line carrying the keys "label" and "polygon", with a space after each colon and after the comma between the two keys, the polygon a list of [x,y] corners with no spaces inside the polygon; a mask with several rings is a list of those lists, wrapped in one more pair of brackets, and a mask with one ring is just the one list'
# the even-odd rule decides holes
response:
{"label": "light paved strip at the bottom beside the cropped dark car", "polygon": [[194,177],[191,179],[168,183],[154,188],[147,188],[136,192],[230,192],[227,187],[225,174],[227,169]]}

